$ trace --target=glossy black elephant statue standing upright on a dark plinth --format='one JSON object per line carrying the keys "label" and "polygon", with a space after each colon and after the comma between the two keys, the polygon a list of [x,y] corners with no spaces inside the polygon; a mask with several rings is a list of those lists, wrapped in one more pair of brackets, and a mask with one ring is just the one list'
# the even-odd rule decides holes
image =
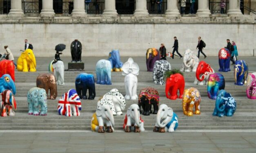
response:
{"label": "glossy black elephant statue standing upright on a dark plinth", "polygon": [[78,39],[75,39],[71,45],[71,62],[82,62],[81,61],[81,55],[82,55],[82,43],[78,41]]}

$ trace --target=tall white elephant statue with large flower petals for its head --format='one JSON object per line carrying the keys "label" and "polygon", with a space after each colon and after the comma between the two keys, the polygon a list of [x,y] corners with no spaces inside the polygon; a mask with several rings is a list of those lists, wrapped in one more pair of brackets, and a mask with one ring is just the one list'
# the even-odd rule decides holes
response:
{"label": "tall white elephant statue with large flower petals for its head", "polygon": [[130,57],[122,66],[122,75],[125,75],[125,99],[136,100],[138,78],[140,68],[137,63]]}

